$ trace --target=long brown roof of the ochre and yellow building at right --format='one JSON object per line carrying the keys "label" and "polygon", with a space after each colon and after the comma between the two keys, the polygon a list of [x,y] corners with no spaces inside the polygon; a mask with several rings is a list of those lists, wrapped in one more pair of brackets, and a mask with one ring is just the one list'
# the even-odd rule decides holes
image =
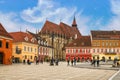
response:
{"label": "long brown roof of the ochre and yellow building at right", "polygon": [[120,31],[91,31],[92,39],[120,40]]}

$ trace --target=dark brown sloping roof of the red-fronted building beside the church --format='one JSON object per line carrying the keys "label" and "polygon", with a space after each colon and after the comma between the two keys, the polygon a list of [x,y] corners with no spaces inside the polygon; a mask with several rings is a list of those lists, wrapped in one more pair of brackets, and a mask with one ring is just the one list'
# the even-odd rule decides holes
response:
{"label": "dark brown sloping roof of the red-fronted building beside the church", "polygon": [[91,39],[90,36],[81,36],[78,39],[75,39],[66,47],[90,47],[91,46]]}

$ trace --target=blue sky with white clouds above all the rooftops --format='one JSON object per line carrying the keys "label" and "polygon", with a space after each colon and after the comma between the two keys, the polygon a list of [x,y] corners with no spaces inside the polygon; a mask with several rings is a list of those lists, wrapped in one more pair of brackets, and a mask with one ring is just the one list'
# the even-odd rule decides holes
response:
{"label": "blue sky with white clouds above all the rooftops", "polygon": [[8,32],[40,31],[46,20],[91,30],[120,30],[120,0],[0,0],[0,23]]}

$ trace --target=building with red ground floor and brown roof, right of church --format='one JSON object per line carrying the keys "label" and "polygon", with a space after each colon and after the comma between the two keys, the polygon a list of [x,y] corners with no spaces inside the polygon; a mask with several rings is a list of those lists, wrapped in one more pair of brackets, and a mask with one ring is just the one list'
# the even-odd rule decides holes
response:
{"label": "building with red ground floor and brown roof, right of church", "polygon": [[66,59],[76,58],[79,61],[91,60],[90,36],[82,36],[66,46]]}

